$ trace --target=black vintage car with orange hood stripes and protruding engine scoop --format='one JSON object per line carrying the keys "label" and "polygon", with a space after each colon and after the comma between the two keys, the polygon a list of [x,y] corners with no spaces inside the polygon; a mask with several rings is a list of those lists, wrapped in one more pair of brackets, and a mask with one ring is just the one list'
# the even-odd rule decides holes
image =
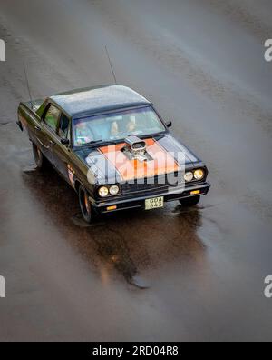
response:
{"label": "black vintage car with orange hood stripes and protruding engine scoop", "polygon": [[79,195],[83,218],[165,202],[199,203],[207,167],[172,135],[154,106],[105,85],[21,103],[18,125],[39,168],[51,163]]}

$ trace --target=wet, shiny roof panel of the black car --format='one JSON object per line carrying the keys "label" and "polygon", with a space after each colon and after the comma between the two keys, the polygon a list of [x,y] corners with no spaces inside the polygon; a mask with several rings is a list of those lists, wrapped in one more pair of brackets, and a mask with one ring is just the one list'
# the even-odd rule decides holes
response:
{"label": "wet, shiny roof panel of the black car", "polygon": [[49,97],[73,117],[141,105],[151,105],[145,97],[123,85],[103,85],[73,90]]}

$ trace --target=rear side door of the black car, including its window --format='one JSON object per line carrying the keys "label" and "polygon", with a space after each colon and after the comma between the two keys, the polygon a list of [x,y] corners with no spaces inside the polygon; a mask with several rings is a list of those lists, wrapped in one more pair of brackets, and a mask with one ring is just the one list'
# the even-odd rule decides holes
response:
{"label": "rear side door of the black car, including its window", "polygon": [[61,111],[54,105],[47,105],[42,121],[35,128],[37,145],[44,156],[53,164],[52,145],[55,142]]}

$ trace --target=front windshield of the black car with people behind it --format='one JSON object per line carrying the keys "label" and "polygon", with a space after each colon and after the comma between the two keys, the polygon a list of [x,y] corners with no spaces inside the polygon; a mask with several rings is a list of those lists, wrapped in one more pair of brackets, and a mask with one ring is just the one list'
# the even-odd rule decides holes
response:
{"label": "front windshield of the black car with people behind it", "polygon": [[129,135],[148,136],[165,132],[151,106],[73,120],[73,145],[123,140]]}

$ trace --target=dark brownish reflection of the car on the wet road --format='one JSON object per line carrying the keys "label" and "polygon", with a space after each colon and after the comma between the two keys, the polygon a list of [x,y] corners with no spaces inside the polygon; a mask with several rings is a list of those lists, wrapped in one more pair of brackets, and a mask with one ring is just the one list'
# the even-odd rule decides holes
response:
{"label": "dark brownish reflection of the car on the wet road", "polygon": [[[198,207],[186,209],[175,203],[153,212],[126,211],[102,215],[88,225],[78,212],[77,195],[52,168],[41,172],[30,166],[24,168],[22,176],[34,201],[47,209],[53,224],[68,231],[71,245],[92,265],[103,264],[104,280],[106,273],[115,269],[128,283],[150,287],[144,280],[146,268],[205,252],[197,235],[201,225]],[[99,259],[93,262],[93,256]]]}

